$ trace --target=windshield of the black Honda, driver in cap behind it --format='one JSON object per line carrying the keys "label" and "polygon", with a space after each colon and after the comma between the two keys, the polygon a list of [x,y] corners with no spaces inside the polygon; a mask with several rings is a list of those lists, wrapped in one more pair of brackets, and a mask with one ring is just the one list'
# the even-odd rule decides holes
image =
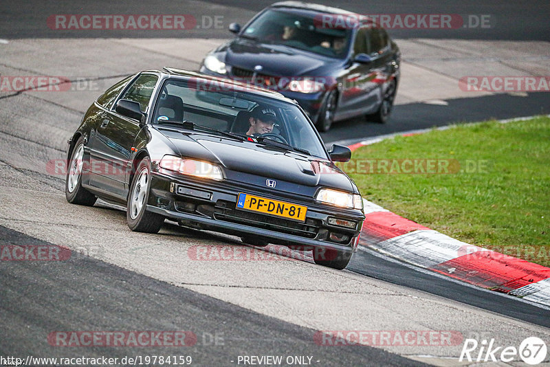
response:
{"label": "windshield of the black Honda, driver in cap behind it", "polygon": [[328,159],[314,128],[296,105],[250,93],[244,85],[200,78],[166,80],[155,102],[153,124],[184,121],[195,123],[196,130],[203,126],[213,133],[250,137],[259,144]]}

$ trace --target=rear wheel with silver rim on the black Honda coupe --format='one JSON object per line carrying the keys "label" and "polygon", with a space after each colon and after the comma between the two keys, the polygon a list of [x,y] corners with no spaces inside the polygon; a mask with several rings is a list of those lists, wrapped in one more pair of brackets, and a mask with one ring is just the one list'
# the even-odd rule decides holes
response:
{"label": "rear wheel with silver rim on the black Honda coupe", "polygon": [[71,154],[65,177],[65,197],[72,204],[91,206],[98,199],[94,194],[82,187],[82,168],[84,159],[84,143],[80,137]]}

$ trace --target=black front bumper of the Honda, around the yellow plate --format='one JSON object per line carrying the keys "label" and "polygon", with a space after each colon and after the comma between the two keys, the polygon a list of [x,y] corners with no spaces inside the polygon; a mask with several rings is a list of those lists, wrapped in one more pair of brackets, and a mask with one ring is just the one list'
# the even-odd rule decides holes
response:
{"label": "black front bumper of the Honda, around the yellow plate", "polygon": [[[239,192],[307,206],[305,222],[236,209]],[[281,196],[280,194],[283,194]],[[195,182],[153,172],[146,210],[162,214],[191,227],[236,236],[252,235],[279,245],[324,247],[354,252],[364,221],[360,210],[305,203],[298,195],[265,192],[250,186]],[[356,223],[353,229],[330,225],[329,217]]]}

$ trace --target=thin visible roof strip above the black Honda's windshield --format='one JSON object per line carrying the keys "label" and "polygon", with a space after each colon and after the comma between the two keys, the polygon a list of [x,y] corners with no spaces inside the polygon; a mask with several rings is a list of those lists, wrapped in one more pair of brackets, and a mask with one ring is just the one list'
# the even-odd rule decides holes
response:
{"label": "thin visible roof strip above the black Honda's windshield", "polygon": [[[293,104],[298,104],[295,100],[283,96],[283,94],[278,91],[272,91],[271,89],[265,89],[258,87],[256,85],[250,85],[244,82],[239,82],[237,80],[219,78],[217,76],[210,76],[208,74],[197,73],[196,71],[189,71],[184,69],[177,69],[175,67],[164,67],[162,71],[157,70],[148,70],[149,72],[157,72],[167,74],[170,78],[172,77],[181,77],[181,79],[188,80],[190,78],[200,78],[206,82],[211,81],[214,83],[219,83],[224,88],[235,86],[236,89],[242,88],[245,91],[258,94],[267,98],[276,98],[277,100],[282,100],[285,102],[292,102]],[[145,71],[144,71],[145,72]]]}

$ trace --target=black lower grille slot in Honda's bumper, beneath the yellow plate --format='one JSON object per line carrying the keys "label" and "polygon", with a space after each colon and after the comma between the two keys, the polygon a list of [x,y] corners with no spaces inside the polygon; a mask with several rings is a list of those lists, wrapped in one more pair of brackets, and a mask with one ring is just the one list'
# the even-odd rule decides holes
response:
{"label": "black lower grille slot in Honda's bumper, beneath the yellow plate", "polygon": [[294,234],[307,238],[315,238],[319,230],[318,222],[313,219],[307,219],[306,223],[300,223],[289,221],[288,219],[275,218],[274,216],[245,212],[243,210],[228,208],[216,209],[214,218],[220,221],[241,223],[252,227],[263,228],[265,230]]}

